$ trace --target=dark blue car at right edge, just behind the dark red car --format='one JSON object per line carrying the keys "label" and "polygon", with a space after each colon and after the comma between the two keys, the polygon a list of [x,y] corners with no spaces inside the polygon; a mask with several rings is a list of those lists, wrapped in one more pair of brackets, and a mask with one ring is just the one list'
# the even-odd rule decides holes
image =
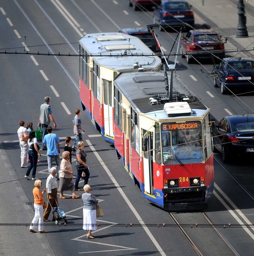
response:
{"label": "dark blue car at right edge, just behind the dark red car", "polygon": [[229,90],[254,91],[254,61],[251,58],[224,58],[212,73],[214,86],[221,88],[221,94]]}

